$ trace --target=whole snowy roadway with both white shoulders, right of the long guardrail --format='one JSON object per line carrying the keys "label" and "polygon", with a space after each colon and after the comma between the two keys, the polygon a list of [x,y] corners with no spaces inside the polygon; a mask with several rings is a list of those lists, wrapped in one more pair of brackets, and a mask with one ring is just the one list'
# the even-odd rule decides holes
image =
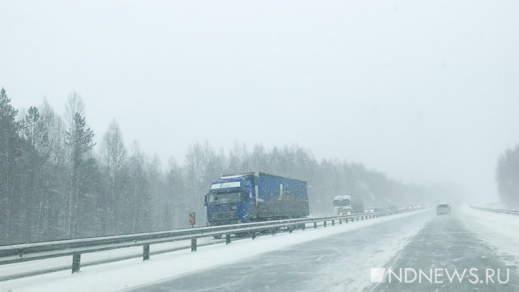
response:
{"label": "whole snowy roadway with both white shoulders, right of the long guardrail", "polygon": [[[428,209],[20,278],[0,291],[519,291],[517,231],[510,215]],[[444,281],[372,283],[372,268],[443,269]],[[508,282],[446,281],[445,272],[470,268],[508,270]]]}

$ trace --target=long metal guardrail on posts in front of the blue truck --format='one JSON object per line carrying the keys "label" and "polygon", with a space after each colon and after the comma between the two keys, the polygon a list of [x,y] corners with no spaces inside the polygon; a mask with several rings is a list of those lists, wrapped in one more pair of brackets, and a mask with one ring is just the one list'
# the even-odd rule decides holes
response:
{"label": "long metal guardrail on posts in front of the blue truck", "polygon": [[79,272],[81,254],[93,253],[96,251],[142,246],[143,260],[148,260],[149,245],[151,244],[190,239],[191,250],[196,251],[197,238],[200,237],[225,235],[225,242],[226,244],[229,244],[231,234],[247,233],[251,235],[252,239],[254,239],[257,232],[268,231],[269,233],[275,234],[277,230],[282,227],[288,228],[289,233],[291,233],[294,228],[301,228],[304,230],[306,228],[306,224],[309,223],[313,223],[313,228],[316,229],[318,222],[323,222],[323,227],[326,227],[327,222],[335,225],[336,222],[342,224],[343,222],[348,223],[371,218],[385,217],[404,213],[406,211],[410,210],[394,210],[376,213],[286,219],[158,232],[87,237],[73,240],[5,245],[0,246],[0,265],[72,255],[72,273],[75,273]]}

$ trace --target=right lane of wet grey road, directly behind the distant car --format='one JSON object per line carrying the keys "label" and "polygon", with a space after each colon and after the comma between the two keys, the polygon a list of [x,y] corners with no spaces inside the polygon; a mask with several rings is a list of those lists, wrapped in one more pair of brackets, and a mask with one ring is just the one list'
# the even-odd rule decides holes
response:
{"label": "right lane of wet grey road, directly behind the distant car", "polygon": [[[385,267],[397,272],[398,277],[400,277],[400,269],[412,269],[408,272],[410,283],[405,283],[405,278],[402,279],[404,283],[397,278],[393,278],[394,281],[389,283],[389,277],[386,276],[386,283],[377,285],[373,290],[376,292],[519,291],[517,267],[507,266],[503,261],[506,255],[498,255],[493,246],[489,246],[477,238],[457,216],[460,215],[437,216],[435,220],[428,222],[414,240],[403,249],[399,257],[395,258],[388,265],[389,267]],[[439,275],[437,279],[434,278],[434,269],[443,270],[437,273]],[[473,270],[473,273],[470,274],[470,269],[477,270]],[[489,269],[488,272],[487,269]],[[420,270],[431,280],[422,276],[421,283],[420,278],[412,281],[414,273],[419,275]],[[452,276],[455,271],[458,272],[461,280],[457,276],[452,277],[452,281],[448,278],[447,273]],[[464,275],[463,271],[465,271]],[[499,283],[498,271],[500,272],[499,280],[506,283]],[[403,270],[402,276],[405,275],[404,272],[405,270]],[[491,276],[492,274],[494,275]],[[487,275],[491,277],[487,277]],[[506,281],[507,278],[508,281]]]}

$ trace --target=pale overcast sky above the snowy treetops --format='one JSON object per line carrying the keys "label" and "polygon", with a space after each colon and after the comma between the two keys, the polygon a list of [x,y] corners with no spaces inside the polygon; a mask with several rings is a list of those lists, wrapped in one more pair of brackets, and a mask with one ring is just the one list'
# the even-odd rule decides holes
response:
{"label": "pale overcast sky above the snowy treetops", "polygon": [[17,108],[76,90],[87,123],[182,162],[297,143],[404,182],[496,194],[519,142],[519,1],[6,1]]}

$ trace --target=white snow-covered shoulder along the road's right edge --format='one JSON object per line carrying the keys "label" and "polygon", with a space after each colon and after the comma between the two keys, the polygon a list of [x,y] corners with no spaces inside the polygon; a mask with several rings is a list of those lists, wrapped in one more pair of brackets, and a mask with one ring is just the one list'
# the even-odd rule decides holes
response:
{"label": "white snow-covered shoulder along the road's right edge", "polygon": [[[454,211],[453,211],[454,214]],[[510,266],[519,267],[519,217],[461,206],[454,214],[466,228],[496,249],[501,260]]]}

